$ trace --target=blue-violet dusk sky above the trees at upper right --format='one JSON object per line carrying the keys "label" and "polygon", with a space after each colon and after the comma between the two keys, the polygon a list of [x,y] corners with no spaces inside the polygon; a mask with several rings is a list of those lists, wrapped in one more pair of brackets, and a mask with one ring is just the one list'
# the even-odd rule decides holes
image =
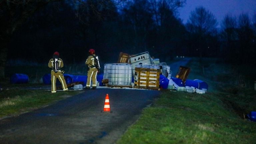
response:
{"label": "blue-violet dusk sky above the trees at upper right", "polygon": [[189,19],[190,12],[196,7],[203,6],[217,18],[218,24],[221,23],[226,14],[239,16],[241,13],[248,13],[252,18],[256,12],[256,0],[187,0],[187,4],[179,9],[180,18],[183,23]]}

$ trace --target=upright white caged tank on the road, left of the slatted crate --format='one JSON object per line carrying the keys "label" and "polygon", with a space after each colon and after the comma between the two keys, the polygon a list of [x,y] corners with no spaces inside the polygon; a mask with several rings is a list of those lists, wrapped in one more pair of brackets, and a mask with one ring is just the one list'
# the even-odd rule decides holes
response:
{"label": "upright white caged tank on the road, left of the slatted crate", "polygon": [[108,79],[109,85],[131,86],[132,65],[126,63],[105,64],[103,78]]}

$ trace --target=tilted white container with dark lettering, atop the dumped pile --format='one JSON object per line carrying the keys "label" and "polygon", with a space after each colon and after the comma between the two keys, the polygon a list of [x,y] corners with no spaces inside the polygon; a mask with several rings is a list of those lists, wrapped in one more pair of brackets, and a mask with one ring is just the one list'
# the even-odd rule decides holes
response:
{"label": "tilted white container with dark lettering, atop the dumped pile", "polygon": [[136,65],[139,65],[139,64],[152,65],[153,64],[153,61],[148,52],[131,55],[130,60],[131,60],[131,64],[132,64],[132,75],[133,76],[135,75]]}

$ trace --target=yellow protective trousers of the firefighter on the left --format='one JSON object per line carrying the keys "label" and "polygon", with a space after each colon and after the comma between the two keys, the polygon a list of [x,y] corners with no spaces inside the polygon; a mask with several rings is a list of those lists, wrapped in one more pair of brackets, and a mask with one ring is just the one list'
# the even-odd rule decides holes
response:
{"label": "yellow protective trousers of the firefighter on the left", "polygon": [[53,70],[51,71],[51,82],[52,82],[52,93],[56,93],[57,89],[56,89],[56,80],[57,78],[59,79],[62,89],[63,91],[67,91],[68,87],[65,81],[65,78],[63,76],[63,74],[58,71],[57,73],[55,73]]}

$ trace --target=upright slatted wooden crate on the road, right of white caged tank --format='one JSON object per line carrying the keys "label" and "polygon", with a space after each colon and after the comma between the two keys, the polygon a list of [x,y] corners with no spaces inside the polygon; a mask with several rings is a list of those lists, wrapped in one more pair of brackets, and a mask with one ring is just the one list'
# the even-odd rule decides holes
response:
{"label": "upright slatted wooden crate on the road, right of white caged tank", "polygon": [[137,77],[137,80],[134,80],[134,88],[158,90],[160,71],[160,69],[136,67],[135,77]]}

